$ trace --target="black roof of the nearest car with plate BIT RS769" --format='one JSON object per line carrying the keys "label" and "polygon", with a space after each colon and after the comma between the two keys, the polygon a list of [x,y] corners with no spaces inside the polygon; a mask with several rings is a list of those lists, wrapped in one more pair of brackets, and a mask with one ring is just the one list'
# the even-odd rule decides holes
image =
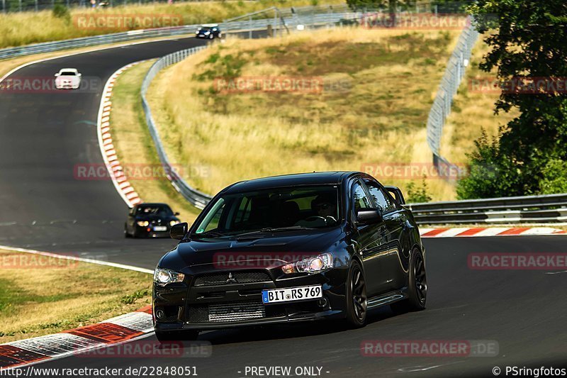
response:
{"label": "black roof of the nearest car with plate BIT RS769", "polygon": [[223,193],[231,194],[274,187],[293,187],[296,185],[340,184],[344,178],[354,174],[360,174],[360,172],[310,172],[262,177],[261,179],[252,179],[232,184],[230,187],[224,189]]}

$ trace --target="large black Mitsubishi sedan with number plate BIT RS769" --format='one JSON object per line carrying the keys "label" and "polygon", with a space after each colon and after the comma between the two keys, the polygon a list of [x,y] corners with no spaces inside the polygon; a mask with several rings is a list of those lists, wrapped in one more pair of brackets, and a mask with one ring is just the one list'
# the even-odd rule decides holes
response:
{"label": "large black Mitsubishi sedan with number plate BIT RS769", "polygon": [[400,189],[361,172],[254,179],[220,191],[155,269],[159,340],[199,330],[425,308],[425,250]]}

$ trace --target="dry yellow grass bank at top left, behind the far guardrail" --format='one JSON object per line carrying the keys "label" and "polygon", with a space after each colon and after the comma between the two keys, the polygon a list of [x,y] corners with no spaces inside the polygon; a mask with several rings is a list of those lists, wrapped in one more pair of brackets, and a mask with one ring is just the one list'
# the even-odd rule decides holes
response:
{"label": "dry yellow grass bank at top left, behind the far guardrail", "polygon": [[[344,1],[327,0],[326,3],[344,4]],[[124,31],[118,28],[108,30],[81,27],[76,21],[76,16],[85,13],[94,15],[167,13],[179,15],[183,18],[184,24],[191,24],[220,22],[225,18],[240,16],[244,13],[266,9],[274,5],[288,7],[310,4],[310,0],[199,1],[178,4],[145,4],[95,10],[72,9],[69,18],[54,17],[51,11],[6,13],[0,14],[0,48]],[[140,27],[132,27],[131,29],[135,28]]]}

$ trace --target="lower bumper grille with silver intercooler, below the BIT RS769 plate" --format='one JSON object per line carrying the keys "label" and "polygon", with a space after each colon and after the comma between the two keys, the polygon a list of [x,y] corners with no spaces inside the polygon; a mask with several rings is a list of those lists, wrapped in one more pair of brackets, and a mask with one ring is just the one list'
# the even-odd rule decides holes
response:
{"label": "lower bumper grille with silver intercooler, below the BIT RS769 plate", "polygon": [[187,311],[189,323],[223,323],[285,316],[280,306],[264,306],[261,301],[242,301],[192,306]]}

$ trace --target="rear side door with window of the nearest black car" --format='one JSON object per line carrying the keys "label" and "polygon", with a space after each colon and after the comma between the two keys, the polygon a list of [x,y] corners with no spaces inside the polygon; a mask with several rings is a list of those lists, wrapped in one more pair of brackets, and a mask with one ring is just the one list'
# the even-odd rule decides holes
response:
{"label": "rear side door with window of the nearest black car", "polygon": [[369,191],[373,206],[382,211],[383,224],[381,226],[381,259],[378,267],[378,285],[384,291],[399,289],[405,283],[405,267],[403,264],[404,251],[401,246],[403,225],[405,223],[402,209],[386,190],[374,179],[363,179]]}

